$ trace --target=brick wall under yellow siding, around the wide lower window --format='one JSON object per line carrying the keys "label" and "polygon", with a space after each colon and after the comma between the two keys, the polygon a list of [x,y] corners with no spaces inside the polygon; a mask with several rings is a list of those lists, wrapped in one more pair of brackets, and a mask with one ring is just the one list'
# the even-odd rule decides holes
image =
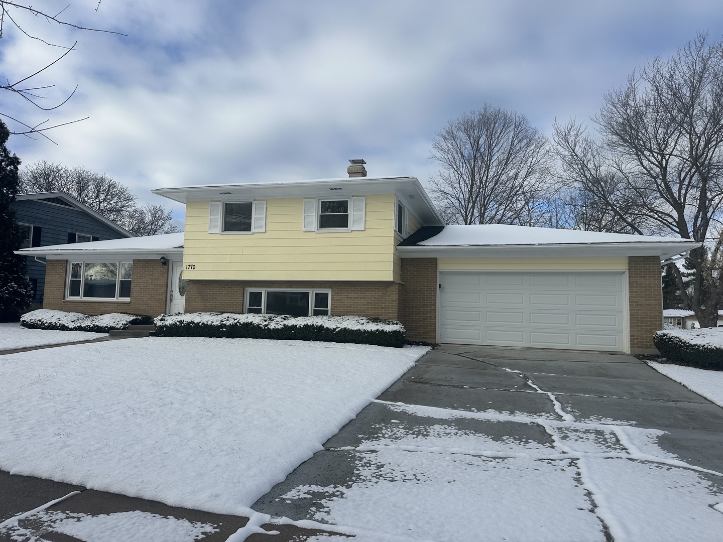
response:
{"label": "brick wall under yellow siding, around the wide lower window", "polygon": [[399,284],[393,282],[312,282],[189,280],[186,312],[244,311],[244,288],[331,290],[331,314],[398,319]]}

